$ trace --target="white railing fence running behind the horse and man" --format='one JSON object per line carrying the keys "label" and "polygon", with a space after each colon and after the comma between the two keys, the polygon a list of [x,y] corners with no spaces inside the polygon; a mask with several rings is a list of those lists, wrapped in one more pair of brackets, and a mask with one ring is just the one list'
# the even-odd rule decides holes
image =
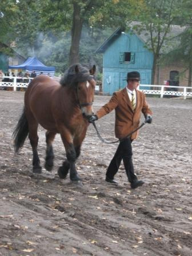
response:
{"label": "white railing fence running behind the horse and man", "polygon": [[[0,89],[13,87],[14,91],[16,91],[17,88],[26,88],[31,79],[33,79],[27,77],[3,77],[3,79],[4,78],[9,78],[11,82],[0,82]],[[18,79],[21,80],[21,82],[17,82]],[[98,91],[98,89],[99,87],[97,86],[96,91]],[[143,91],[145,94],[160,95],[161,98],[163,98],[164,95],[171,95],[173,97],[180,96],[184,99],[187,97],[192,97],[192,87],[186,86],[140,85],[138,89]]]}

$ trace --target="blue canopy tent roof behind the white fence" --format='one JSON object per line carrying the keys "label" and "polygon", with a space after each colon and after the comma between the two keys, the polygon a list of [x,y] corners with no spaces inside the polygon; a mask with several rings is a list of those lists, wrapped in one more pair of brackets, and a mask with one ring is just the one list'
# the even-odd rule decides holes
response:
{"label": "blue canopy tent roof behind the white fence", "polygon": [[51,77],[55,74],[55,67],[47,67],[36,57],[29,57],[25,62],[16,66],[9,66],[9,69],[24,69],[27,72],[31,73],[35,70],[37,75],[41,72],[45,75],[49,74]]}

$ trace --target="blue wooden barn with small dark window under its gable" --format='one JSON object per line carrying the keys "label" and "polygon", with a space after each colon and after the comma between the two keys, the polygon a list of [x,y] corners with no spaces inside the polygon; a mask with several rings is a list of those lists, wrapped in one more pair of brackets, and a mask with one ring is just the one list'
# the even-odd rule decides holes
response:
{"label": "blue wooden barn with small dark window under its gable", "polygon": [[103,53],[103,93],[111,95],[125,87],[130,71],[139,71],[141,84],[150,85],[153,53],[134,31],[124,33],[121,28],[116,29],[96,53]]}

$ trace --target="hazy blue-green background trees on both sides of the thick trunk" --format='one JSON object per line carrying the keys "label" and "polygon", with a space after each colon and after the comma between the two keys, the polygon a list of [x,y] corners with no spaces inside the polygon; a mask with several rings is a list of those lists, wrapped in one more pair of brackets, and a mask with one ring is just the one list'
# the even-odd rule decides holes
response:
{"label": "hazy blue-green background trees on both sides of the thick trunk", "polygon": [[[111,29],[90,29],[83,27],[80,43],[80,62],[84,64],[96,64],[97,71],[102,71],[102,55],[95,54],[95,50],[112,33]],[[59,37],[49,33],[45,35],[41,48],[37,51],[37,57],[47,66],[55,66],[56,71],[62,74],[67,69],[69,60],[71,36],[70,33],[62,33]]]}

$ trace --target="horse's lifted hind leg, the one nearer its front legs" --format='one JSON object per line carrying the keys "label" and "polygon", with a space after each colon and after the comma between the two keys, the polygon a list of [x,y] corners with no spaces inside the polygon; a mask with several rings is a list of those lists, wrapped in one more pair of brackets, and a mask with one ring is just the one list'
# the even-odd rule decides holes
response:
{"label": "horse's lifted hind leg, the one nearer its front legs", "polygon": [[51,131],[46,132],[46,158],[45,158],[45,169],[47,171],[51,171],[53,169],[53,159],[54,159],[54,153],[53,153],[53,146],[52,143],[55,138],[55,133]]}

